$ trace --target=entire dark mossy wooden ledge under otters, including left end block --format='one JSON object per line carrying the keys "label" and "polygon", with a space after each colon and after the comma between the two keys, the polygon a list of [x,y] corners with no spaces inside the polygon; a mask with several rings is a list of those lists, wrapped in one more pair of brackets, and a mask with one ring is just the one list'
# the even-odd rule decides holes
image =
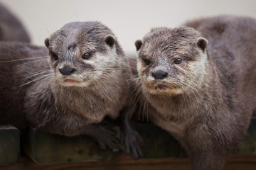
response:
{"label": "entire dark mossy wooden ledge under otters, including left end block", "polygon": [[[146,161],[147,159],[157,160],[156,162],[172,160],[169,158],[189,160],[184,149],[173,137],[171,137],[171,135],[169,135],[168,132],[161,130],[161,128],[156,127],[151,123],[141,124],[138,129],[145,143],[145,146],[143,147],[144,159],[139,160],[138,162],[133,162],[132,159],[129,158],[129,162],[132,162],[132,164],[140,164],[139,162],[147,162],[147,164],[151,164],[151,162],[153,162]],[[24,139],[25,140],[22,142],[23,150],[33,162],[97,162],[95,164],[103,165],[106,160],[113,162],[113,164],[119,164],[119,161],[124,161],[124,156],[120,156],[120,158],[118,158],[119,156],[116,156],[123,154],[113,154],[111,149],[102,150],[98,147],[98,144],[94,139],[87,136],[64,137],[29,129],[28,132],[26,132]],[[244,157],[244,154],[252,154],[250,157],[256,157],[256,119],[252,119],[245,140],[234,153],[241,159]],[[240,154],[242,155],[240,156]],[[18,162],[19,155],[20,147],[18,130],[11,126],[2,126],[0,128],[0,164],[14,164]],[[125,157],[125,159],[127,159],[127,157]],[[118,161],[115,162],[114,160]],[[255,164],[255,162],[253,162],[253,164]]]}

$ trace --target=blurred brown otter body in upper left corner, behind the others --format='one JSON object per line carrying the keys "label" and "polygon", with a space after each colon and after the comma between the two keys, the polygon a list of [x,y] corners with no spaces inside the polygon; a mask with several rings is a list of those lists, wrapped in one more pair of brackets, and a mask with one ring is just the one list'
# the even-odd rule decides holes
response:
{"label": "blurred brown otter body in upper left corner, behind the others", "polygon": [[2,4],[0,4],[0,40],[30,42],[21,21]]}

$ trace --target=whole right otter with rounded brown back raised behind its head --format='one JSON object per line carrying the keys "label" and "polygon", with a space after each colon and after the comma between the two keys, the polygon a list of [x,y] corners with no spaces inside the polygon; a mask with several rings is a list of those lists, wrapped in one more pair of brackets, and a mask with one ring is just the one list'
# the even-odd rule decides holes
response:
{"label": "whole right otter with rounded brown back raised behind its head", "polygon": [[192,169],[222,169],[256,111],[256,21],[218,16],[188,26],[152,28],[135,42],[137,91]]}

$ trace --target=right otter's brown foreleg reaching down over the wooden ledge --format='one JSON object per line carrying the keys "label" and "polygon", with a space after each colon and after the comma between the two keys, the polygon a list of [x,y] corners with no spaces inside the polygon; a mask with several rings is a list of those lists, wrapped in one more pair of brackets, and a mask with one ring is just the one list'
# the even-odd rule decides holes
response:
{"label": "right otter's brown foreleg reaching down over the wooden ledge", "polygon": [[214,132],[195,130],[181,141],[191,157],[193,170],[221,170],[228,154],[233,150],[233,143]]}

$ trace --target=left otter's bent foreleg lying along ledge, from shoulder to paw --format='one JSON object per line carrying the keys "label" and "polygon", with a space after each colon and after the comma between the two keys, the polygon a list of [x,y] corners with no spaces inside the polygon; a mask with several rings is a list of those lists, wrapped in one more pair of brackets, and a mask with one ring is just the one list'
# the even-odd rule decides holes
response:
{"label": "left otter's bent foreleg lying along ledge, from shoulder to paw", "polygon": [[[37,84],[31,86],[36,89]],[[82,115],[65,111],[61,113],[59,108],[55,106],[53,92],[47,89],[39,89],[36,93],[28,89],[26,94],[26,118],[33,127],[43,132],[65,135],[78,136],[90,135],[99,142],[103,149],[105,145],[110,148],[119,148],[119,140],[115,137],[116,132],[110,130],[103,123],[85,124],[86,120]],[[41,109],[43,108],[43,109]]]}

